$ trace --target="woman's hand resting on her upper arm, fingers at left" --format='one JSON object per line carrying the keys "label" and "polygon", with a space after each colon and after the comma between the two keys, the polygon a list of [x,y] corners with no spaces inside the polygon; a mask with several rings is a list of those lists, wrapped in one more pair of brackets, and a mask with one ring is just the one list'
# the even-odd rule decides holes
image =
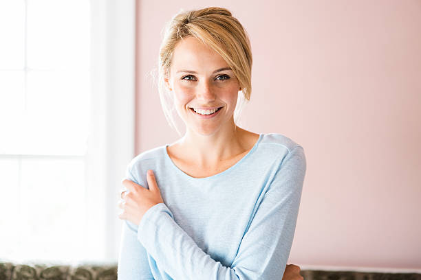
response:
{"label": "woman's hand resting on her upper arm, fingers at left", "polygon": [[[149,172],[151,172],[149,174]],[[123,180],[122,184],[128,191],[122,191],[122,199],[118,202],[118,207],[123,211],[118,215],[122,220],[128,220],[139,225],[144,213],[151,207],[159,203],[164,203],[160,189],[155,180],[152,170],[147,173],[149,189],[138,185],[131,180]]]}

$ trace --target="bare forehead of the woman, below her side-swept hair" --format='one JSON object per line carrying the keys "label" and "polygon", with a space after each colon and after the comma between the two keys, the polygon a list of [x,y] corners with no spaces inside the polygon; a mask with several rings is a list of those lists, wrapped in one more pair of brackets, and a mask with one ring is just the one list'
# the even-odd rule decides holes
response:
{"label": "bare forehead of the woman, below her side-swept hair", "polygon": [[197,38],[189,36],[175,45],[172,70],[214,71],[222,67],[228,67],[224,58]]}

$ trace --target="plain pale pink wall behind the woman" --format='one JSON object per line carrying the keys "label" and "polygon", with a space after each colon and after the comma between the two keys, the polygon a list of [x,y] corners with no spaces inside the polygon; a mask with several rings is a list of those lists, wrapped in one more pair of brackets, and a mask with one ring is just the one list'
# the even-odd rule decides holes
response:
{"label": "plain pale pink wall behind the woman", "polygon": [[240,126],[307,156],[290,262],[421,269],[421,2],[138,1],[136,154],[177,139],[149,76],[160,31],[207,5],[250,34]]}

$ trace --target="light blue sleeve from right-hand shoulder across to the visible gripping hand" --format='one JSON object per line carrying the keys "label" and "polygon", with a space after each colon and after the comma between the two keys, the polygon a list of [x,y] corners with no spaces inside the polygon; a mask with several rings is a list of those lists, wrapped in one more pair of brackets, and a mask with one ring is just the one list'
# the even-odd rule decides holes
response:
{"label": "light blue sleeve from right-hand shoulder across to the visible gripping hand", "polygon": [[280,162],[230,267],[199,248],[164,203],[144,214],[138,226],[138,240],[158,267],[175,280],[282,279],[306,170],[303,148],[297,145]]}

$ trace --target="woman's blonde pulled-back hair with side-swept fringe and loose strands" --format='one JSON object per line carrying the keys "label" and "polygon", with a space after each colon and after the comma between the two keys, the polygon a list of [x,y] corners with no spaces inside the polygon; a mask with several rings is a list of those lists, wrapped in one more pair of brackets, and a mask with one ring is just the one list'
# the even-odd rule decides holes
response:
{"label": "woman's blonde pulled-back hair with side-swept fringe and loose strands", "polygon": [[175,111],[173,96],[166,91],[164,78],[169,77],[175,45],[188,36],[201,40],[222,56],[239,80],[244,97],[239,94],[239,102],[234,113],[237,123],[244,102],[250,100],[252,68],[250,40],[244,27],[231,12],[217,7],[179,12],[166,25],[158,63],[158,91],[166,120],[180,135],[180,130],[173,119]]}

